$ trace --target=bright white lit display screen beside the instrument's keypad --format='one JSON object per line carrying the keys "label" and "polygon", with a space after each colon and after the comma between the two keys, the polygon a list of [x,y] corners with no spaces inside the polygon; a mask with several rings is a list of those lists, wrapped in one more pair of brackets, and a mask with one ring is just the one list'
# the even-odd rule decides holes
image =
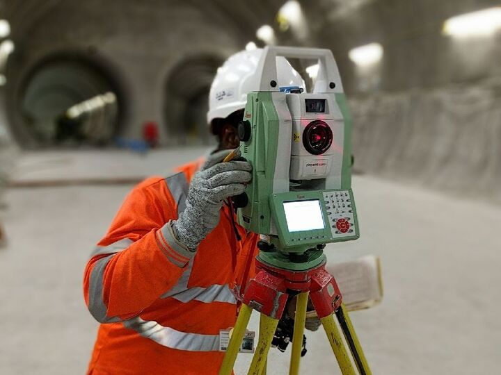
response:
{"label": "bright white lit display screen beside the instrument's keypad", "polygon": [[319,199],[284,202],[283,205],[289,232],[324,229],[324,216]]}

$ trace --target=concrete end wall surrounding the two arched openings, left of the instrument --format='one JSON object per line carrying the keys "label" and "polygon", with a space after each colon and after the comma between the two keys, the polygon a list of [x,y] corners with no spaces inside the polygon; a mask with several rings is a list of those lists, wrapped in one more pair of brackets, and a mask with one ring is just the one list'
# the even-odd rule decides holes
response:
{"label": "concrete end wall surrounding the two arched openings, left of the instrument", "polygon": [[[116,84],[122,97],[118,135],[141,138],[142,124],[154,121],[160,125],[161,143],[177,144],[177,137],[168,133],[176,126],[166,124],[179,118],[179,101],[166,98],[166,84],[177,76],[176,68],[200,58],[217,66],[253,38],[260,22],[272,22],[278,1],[257,1],[252,7],[175,0],[40,3],[6,6],[16,42],[7,69],[8,115],[13,135],[28,148],[36,144],[22,126],[19,99],[33,69],[54,56],[88,60]],[[180,82],[185,92],[198,90],[198,79],[205,86],[212,81],[206,74],[190,78]]]}

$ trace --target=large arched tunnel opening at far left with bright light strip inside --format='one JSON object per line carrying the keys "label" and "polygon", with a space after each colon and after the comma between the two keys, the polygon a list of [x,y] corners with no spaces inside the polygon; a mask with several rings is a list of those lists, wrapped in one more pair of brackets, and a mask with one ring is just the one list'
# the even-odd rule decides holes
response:
{"label": "large arched tunnel opening at far left with bright light strip inside", "polygon": [[97,65],[54,58],[36,66],[23,85],[21,144],[102,146],[118,132],[120,93]]}

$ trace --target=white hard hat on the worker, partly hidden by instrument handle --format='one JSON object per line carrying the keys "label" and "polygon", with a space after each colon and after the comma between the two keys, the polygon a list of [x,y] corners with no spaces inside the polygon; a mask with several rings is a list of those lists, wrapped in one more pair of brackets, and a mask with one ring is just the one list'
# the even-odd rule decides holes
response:
{"label": "white hard hat on the worker, partly hidden by instrument handle", "polygon": [[[209,93],[209,112],[207,123],[228,117],[236,110],[244,109],[249,92],[258,91],[260,78],[257,76],[257,63],[262,49],[240,51],[230,56],[223,66],[218,68]],[[290,65],[286,58],[276,58],[278,86],[281,91],[302,88],[305,83],[301,75]]]}

